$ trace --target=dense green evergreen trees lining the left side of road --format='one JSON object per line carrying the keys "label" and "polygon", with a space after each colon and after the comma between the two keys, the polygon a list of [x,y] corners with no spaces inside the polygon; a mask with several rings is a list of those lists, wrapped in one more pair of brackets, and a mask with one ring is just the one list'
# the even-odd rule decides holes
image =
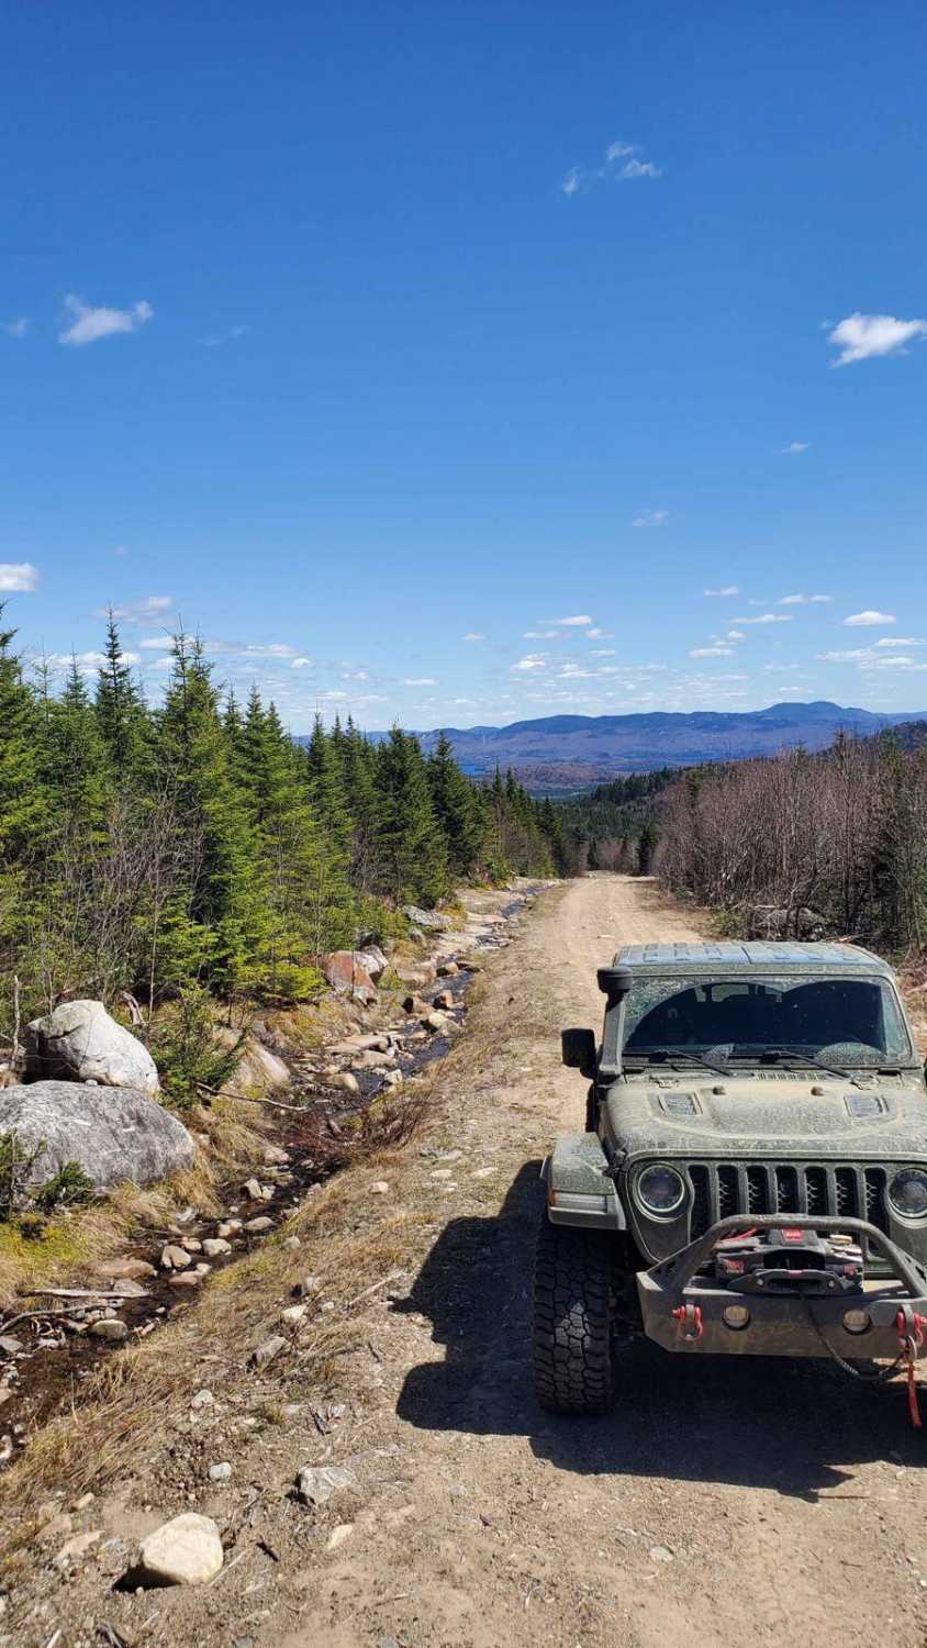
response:
{"label": "dense green evergreen trees lining the left side of road", "polygon": [[165,994],[300,1000],[316,962],[389,933],[403,901],[464,877],[565,867],[550,806],[509,775],[476,786],[440,740],[377,747],[316,722],[298,747],[273,704],[239,705],[178,634],[150,707],[110,620],[105,664],[61,692],[0,634],[0,1012],[63,995],[150,1010]]}

